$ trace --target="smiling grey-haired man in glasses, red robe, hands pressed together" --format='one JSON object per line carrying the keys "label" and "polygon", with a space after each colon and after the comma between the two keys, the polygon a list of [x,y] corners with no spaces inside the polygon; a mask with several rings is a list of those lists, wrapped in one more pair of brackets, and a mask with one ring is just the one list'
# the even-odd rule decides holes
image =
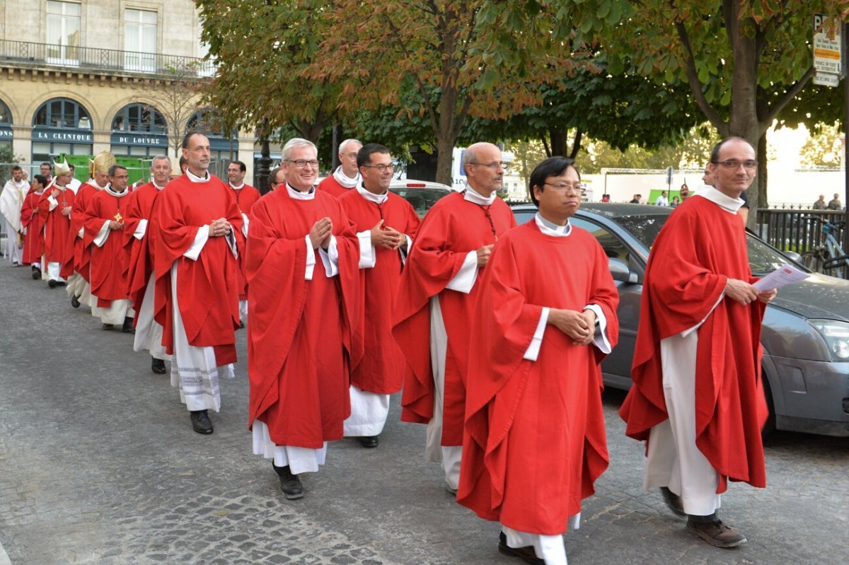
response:
{"label": "smiling grey-haired man in glasses, red robe, hands pressed together", "polygon": [[327,442],[342,438],[348,366],[363,357],[363,258],[340,202],[314,186],[317,155],[306,139],[285,144],[286,182],[250,210],[245,254],[248,421],[287,499],[304,495],[298,475],[317,472]]}

